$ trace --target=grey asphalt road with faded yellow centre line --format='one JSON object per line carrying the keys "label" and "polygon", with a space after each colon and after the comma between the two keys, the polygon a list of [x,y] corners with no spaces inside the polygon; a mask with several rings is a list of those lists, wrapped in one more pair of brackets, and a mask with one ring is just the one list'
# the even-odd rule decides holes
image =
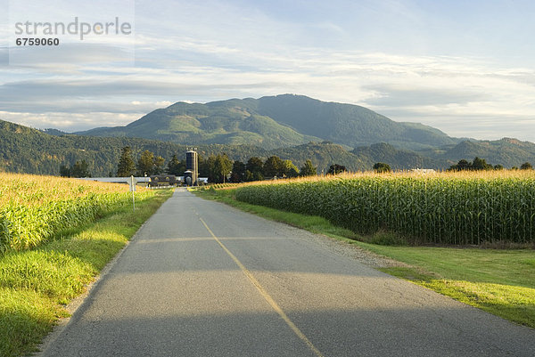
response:
{"label": "grey asphalt road with faded yellow centre line", "polygon": [[322,239],[177,191],[40,355],[535,355],[535,330]]}

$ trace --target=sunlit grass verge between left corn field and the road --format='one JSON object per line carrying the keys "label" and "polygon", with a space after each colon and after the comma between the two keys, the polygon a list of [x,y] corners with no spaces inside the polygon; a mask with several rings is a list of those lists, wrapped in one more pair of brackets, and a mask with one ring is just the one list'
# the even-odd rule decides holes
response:
{"label": "sunlit grass verge between left corn field and the road", "polygon": [[172,191],[118,207],[95,223],[28,251],[0,256],[0,356],[20,356],[37,344],[61,317],[64,305],[117,255]]}

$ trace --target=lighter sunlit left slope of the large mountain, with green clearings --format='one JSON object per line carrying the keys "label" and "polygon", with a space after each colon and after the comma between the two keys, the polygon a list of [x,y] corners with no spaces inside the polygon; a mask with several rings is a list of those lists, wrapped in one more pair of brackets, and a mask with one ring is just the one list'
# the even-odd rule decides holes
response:
{"label": "lighter sunlit left slope of the large mountain, with green clearings", "polygon": [[141,137],[190,145],[250,144],[264,149],[320,140],[281,125],[254,107],[248,100],[208,104],[179,101],[166,109],[154,110],[128,126],[101,127],[77,134]]}

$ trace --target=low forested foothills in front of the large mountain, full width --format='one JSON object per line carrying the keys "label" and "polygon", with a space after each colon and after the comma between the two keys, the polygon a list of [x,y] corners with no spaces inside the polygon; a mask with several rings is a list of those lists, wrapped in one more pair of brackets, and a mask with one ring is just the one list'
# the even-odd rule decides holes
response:
{"label": "low forested foothills in front of the large mountain, full width", "polygon": [[[95,137],[74,134],[45,134],[37,129],[0,120],[0,171],[27,174],[59,174],[61,165],[72,165],[86,160],[94,176],[107,176],[117,170],[120,150],[132,147],[135,156],[150,150],[167,160],[176,154],[185,157],[186,145],[129,137]],[[515,139],[492,142],[460,142],[440,149],[399,150],[388,143],[347,150],[333,142],[308,142],[292,147],[266,150],[254,145],[210,144],[198,146],[203,157],[225,152],[233,160],[247,161],[257,156],[271,155],[290,159],[297,166],[311,159],[318,174],[333,164],[346,166],[351,171],[371,170],[376,162],[385,162],[395,169],[445,169],[460,158],[472,160],[475,156],[487,159],[493,165],[521,166],[535,163],[535,144]],[[451,155],[451,156],[450,156]]]}

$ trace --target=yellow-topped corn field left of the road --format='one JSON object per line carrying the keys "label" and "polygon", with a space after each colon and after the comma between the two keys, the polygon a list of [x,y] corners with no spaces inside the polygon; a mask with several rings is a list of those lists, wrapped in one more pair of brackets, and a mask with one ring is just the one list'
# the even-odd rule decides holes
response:
{"label": "yellow-topped corn field left of the road", "polygon": [[[152,195],[143,189],[138,198]],[[0,252],[37,247],[62,230],[132,203],[128,185],[0,173]]]}

